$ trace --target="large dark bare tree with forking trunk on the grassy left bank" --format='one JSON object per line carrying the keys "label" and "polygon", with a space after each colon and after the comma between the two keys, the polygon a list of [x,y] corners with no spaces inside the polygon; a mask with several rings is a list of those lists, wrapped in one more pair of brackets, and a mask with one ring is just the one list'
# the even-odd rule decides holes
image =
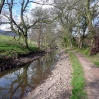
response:
{"label": "large dark bare tree with forking trunk on the grassy left bank", "polygon": [[[27,21],[27,12],[29,13],[28,6],[30,4],[31,0],[22,0],[16,3],[14,0],[7,1],[8,11],[9,15],[5,15],[10,22],[11,30],[16,33],[19,37],[21,37],[24,40],[25,47],[29,48],[28,46],[28,31],[31,27],[33,27],[39,20],[35,20],[34,23],[29,23]],[[17,21],[17,18],[15,18],[15,8],[18,7],[18,15],[17,18],[19,18],[20,21]]]}

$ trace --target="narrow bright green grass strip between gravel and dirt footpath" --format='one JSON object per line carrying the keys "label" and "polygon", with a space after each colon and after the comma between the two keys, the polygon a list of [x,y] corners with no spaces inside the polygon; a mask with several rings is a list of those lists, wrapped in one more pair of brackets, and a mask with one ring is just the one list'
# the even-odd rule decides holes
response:
{"label": "narrow bright green grass strip between gravel and dirt footpath", "polygon": [[73,67],[73,89],[71,99],[86,99],[86,93],[84,91],[85,79],[83,69],[77,57],[72,52],[69,52],[69,55]]}

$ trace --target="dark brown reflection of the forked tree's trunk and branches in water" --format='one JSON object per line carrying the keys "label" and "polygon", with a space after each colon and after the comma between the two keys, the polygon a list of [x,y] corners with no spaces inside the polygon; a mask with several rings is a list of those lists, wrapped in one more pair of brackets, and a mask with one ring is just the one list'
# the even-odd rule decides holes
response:
{"label": "dark brown reflection of the forked tree's trunk and branches in water", "polygon": [[[11,83],[11,85],[10,85],[11,86],[10,87],[10,93],[11,93],[10,98],[11,99],[14,96],[15,92],[19,88],[21,90],[20,97],[22,97],[24,95],[24,92],[28,91],[28,90],[25,89],[27,86],[30,87],[30,88],[33,88],[31,85],[28,84],[27,69],[28,69],[28,67],[24,67],[23,68],[23,73],[21,75],[17,75],[18,78]],[[18,84],[18,86],[16,88],[14,88],[15,84]]]}

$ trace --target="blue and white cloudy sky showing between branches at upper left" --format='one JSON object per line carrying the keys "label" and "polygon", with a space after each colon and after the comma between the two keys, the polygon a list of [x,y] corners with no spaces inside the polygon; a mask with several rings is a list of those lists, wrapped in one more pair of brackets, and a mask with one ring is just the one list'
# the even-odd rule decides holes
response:
{"label": "blue and white cloudy sky showing between branches at upper left", "polygon": [[[48,3],[52,3],[52,0],[34,0],[34,2],[37,2],[37,3],[40,3],[40,4],[43,4],[43,2],[46,2],[46,1],[48,1],[47,4],[48,4]],[[16,0],[15,2],[21,2],[21,1],[20,1],[20,0]],[[31,4],[29,5],[29,7],[28,7],[29,12],[26,12],[26,15],[27,15],[28,17],[31,17],[31,16],[30,16],[30,10],[31,10],[31,9],[35,9],[36,7],[41,6],[40,4],[31,3]],[[50,5],[43,5],[42,7],[43,7],[44,9],[46,9],[46,8],[50,8],[51,6],[50,6]],[[15,17],[16,17],[16,20],[20,21],[20,16],[19,16],[19,14],[20,14],[20,6],[19,6],[18,4],[15,5],[13,12],[14,12],[14,15],[15,15]],[[4,19],[4,20],[6,20],[6,19]],[[9,27],[10,27],[9,24],[0,25],[0,30],[10,31],[10,28],[9,28]]]}

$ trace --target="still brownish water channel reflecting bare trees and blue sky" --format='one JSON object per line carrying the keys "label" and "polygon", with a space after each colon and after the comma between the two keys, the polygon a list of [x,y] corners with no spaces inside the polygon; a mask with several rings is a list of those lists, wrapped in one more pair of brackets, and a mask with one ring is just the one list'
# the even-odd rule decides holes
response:
{"label": "still brownish water channel reflecting bare trees and blue sky", "polygon": [[42,83],[55,67],[56,52],[50,52],[26,66],[0,74],[0,99],[21,99]]}

